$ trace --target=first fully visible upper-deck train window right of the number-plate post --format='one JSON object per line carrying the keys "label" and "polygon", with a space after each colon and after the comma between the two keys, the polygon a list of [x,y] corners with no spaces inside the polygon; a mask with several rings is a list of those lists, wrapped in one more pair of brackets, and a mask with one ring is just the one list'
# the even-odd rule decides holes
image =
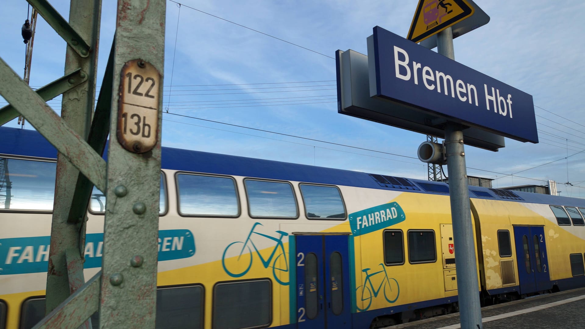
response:
{"label": "first fully visible upper-deck train window right of the number-plate post", "polygon": [[238,217],[240,203],[232,177],[177,174],[179,213],[185,216]]}

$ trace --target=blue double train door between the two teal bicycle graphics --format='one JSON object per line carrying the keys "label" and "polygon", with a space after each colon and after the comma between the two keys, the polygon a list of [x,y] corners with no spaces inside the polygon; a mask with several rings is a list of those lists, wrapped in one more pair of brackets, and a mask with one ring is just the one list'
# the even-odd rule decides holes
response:
{"label": "blue double train door between the two teal bicycle graphics", "polygon": [[297,328],[351,328],[348,235],[295,235]]}

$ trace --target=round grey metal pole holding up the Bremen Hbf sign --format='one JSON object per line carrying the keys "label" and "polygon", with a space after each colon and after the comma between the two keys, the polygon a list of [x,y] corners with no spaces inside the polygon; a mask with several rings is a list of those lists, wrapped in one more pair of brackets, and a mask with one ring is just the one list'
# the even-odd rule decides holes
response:
{"label": "round grey metal pole holding up the Bremen Hbf sign", "polygon": [[[437,35],[439,54],[455,60],[451,28]],[[462,329],[481,329],[481,307],[477,289],[477,266],[473,241],[473,222],[467,188],[467,171],[462,126],[448,122],[445,127],[445,152],[449,174],[449,196],[455,244],[459,317]]]}

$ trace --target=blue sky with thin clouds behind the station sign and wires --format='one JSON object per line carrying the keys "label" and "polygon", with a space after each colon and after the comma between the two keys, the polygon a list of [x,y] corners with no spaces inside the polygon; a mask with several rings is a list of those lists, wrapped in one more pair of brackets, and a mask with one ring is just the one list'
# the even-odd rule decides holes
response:
{"label": "blue sky with thin clouds behind the station sign and wires", "polygon": [[[200,119],[164,114],[163,146],[426,179],[416,155],[425,135],[338,114],[331,58],[338,49],[367,54],[376,25],[405,37],[417,1],[179,2],[167,1],[163,106]],[[68,1],[51,4],[68,18]],[[466,146],[467,174],[495,179],[494,187],[568,181],[562,196],[585,197],[585,152],[573,155],[585,150],[585,2],[476,4],[491,20],[454,40],[455,60],[531,94],[541,143],[506,139],[495,153]],[[25,1],[0,4],[0,57],[21,75],[26,14]],[[115,14],[116,2],[104,0],[98,86]],[[39,18],[30,85],[61,77],[65,50]],[[49,104],[59,111],[60,98]]]}

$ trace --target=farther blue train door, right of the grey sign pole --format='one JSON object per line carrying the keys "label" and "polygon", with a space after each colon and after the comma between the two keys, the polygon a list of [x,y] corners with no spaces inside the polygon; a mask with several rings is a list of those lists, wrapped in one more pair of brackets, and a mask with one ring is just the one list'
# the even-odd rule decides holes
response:
{"label": "farther blue train door, right of the grey sign pole", "polygon": [[542,226],[515,226],[516,256],[520,293],[541,292],[551,288]]}

